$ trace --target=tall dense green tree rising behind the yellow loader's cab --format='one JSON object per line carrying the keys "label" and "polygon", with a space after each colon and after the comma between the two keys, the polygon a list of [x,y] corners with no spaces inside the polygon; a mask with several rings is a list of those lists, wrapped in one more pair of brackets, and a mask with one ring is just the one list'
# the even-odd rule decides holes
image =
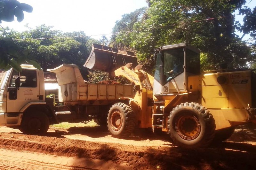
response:
{"label": "tall dense green tree rising behind the yellow loader's cab", "polygon": [[235,34],[232,15],[235,10],[242,9],[245,0],[147,2],[145,17],[133,23],[132,28],[127,27],[131,32],[113,37],[118,44],[130,45],[136,50],[141,61],[147,61],[159,46],[186,42],[201,50],[203,69],[216,69],[223,62],[228,63],[229,68],[248,66],[252,57],[250,47]]}

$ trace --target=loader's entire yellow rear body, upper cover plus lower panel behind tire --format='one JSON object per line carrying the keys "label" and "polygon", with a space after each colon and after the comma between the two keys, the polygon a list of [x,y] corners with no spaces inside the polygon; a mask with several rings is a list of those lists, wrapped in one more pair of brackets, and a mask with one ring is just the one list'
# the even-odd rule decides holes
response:
{"label": "loader's entire yellow rear body, upper cover plus lower panel behind tire", "polygon": [[216,130],[244,124],[249,120],[245,108],[252,104],[251,79],[251,71],[188,77],[188,91],[191,92],[188,102],[197,102],[209,109]]}

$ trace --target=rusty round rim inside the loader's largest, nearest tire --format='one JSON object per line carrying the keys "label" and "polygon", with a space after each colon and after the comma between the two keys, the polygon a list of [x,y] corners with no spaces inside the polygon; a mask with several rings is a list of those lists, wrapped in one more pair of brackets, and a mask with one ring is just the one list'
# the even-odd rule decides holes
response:
{"label": "rusty round rim inside the loader's largest, nearest tire", "polygon": [[198,137],[201,125],[196,116],[192,114],[181,115],[175,121],[176,132],[185,140],[193,140]]}

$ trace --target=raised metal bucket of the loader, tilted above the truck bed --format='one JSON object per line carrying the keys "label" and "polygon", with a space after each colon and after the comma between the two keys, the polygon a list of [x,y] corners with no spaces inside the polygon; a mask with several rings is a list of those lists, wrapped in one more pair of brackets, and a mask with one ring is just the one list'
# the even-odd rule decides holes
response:
{"label": "raised metal bucket of the loader, tilted above the truck bed", "polygon": [[127,63],[137,66],[137,57],[130,51],[121,51],[116,48],[99,44],[92,44],[92,51],[84,67],[104,72],[112,72]]}

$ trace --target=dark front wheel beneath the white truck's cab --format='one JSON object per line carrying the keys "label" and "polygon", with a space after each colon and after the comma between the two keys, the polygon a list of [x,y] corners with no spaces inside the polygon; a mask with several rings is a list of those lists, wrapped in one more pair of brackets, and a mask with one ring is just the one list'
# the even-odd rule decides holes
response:
{"label": "dark front wheel beneath the white truck's cab", "polygon": [[49,129],[50,122],[43,112],[24,114],[21,121],[21,132],[24,134],[44,134]]}

